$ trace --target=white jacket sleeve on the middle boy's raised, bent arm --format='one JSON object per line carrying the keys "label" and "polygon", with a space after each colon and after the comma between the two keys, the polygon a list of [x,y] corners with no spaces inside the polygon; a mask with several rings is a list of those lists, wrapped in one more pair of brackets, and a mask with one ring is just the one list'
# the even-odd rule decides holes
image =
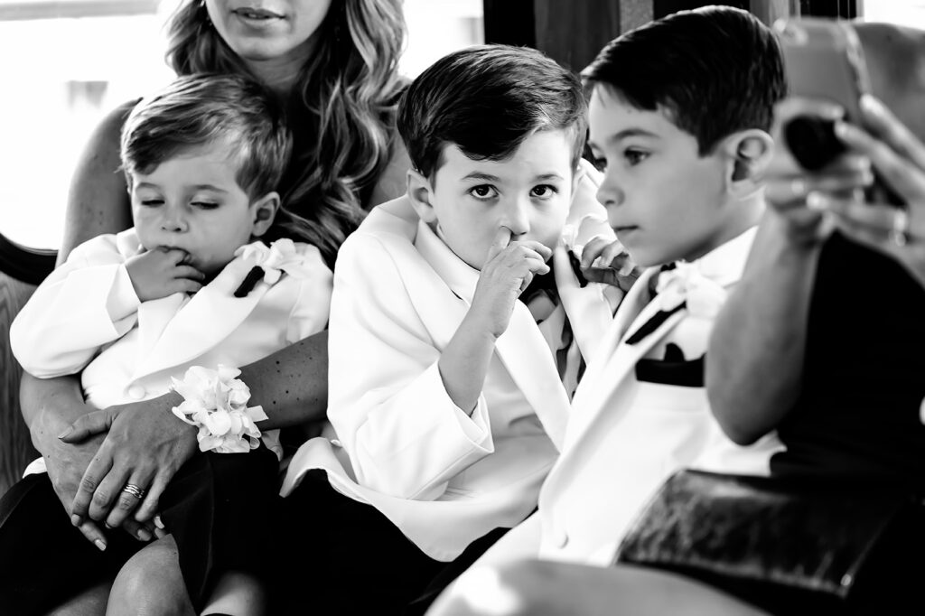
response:
{"label": "white jacket sleeve on the middle boy's raised, bent arm", "polygon": [[[428,267],[423,259],[421,266]],[[438,499],[494,445],[484,398],[472,417],[450,400],[438,373],[440,350],[404,288],[407,275],[414,273],[400,271],[373,236],[354,233],[341,247],[328,333],[328,419],[358,483],[399,498]]]}

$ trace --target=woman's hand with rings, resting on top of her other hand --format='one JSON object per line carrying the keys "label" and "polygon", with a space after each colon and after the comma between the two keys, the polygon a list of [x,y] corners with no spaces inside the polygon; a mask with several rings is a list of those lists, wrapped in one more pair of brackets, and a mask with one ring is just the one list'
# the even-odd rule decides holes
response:
{"label": "woman's hand with rings, resting on top of her other hand", "polygon": [[[108,430],[80,481],[72,508],[79,517],[75,523],[89,518],[117,527],[154,517],[167,484],[197,450],[196,428],[171,413],[181,401],[171,392],[88,413],[73,424],[62,437],[68,443]],[[144,491],[142,499],[125,491],[129,484]]]}

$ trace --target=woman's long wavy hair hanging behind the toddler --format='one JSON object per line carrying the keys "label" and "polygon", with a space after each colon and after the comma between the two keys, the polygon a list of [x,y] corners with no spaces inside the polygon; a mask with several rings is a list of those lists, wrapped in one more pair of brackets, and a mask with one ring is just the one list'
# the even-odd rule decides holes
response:
{"label": "woman's long wavy hair hanging behind the toddler", "polygon": [[[212,26],[202,0],[186,0],[167,29],[166,60],[178,75],[253,76]],[[310,238],[333,265],[364,217],[364,196],[388,164],[404,85],[401,0],[332,0],[317,35],[286,102],[295,147],[277,217],[289,218],[280,227]]]}

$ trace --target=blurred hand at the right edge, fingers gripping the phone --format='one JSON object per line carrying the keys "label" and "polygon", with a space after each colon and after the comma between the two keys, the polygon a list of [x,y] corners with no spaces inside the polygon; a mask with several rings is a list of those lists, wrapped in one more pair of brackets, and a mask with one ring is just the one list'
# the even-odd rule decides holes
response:
{"label": "blurred hand at the right edge, fingers gripping the phone", "polygon": [[813,195],[845,236],[892,256],[925,286],[925,144],[885,106],[861,100],[864,129],[840,122],[835,134],[870,159],[883,183],[905,203],[865,203]]}

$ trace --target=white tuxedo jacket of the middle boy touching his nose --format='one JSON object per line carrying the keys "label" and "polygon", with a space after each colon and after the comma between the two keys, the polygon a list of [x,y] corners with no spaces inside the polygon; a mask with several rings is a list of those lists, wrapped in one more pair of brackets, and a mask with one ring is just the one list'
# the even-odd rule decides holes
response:
{"label": "white tuxedo jacket of the middle boy touching his nose", "polygon": [[[606,233],[593,200],[573,206],[576,240]],[[475,538],[524,520],[565,435],[570,395],[549,342],[567,311],[577,351],[596,348],[611,319],[603,288],[580,288],[560,247],[561,305],[541,326],[522,302],[499,338],[472,416],[450,400],[438,359],[462,322],[478,272],[405,199],[379,205],[340,249],[329,326],[328,419],[338,441],[315,438],[290,462],[287,495],[310,469],[375,506],[430,557],[450,561]],[[564,311],[563,311],[564,307]]]}

